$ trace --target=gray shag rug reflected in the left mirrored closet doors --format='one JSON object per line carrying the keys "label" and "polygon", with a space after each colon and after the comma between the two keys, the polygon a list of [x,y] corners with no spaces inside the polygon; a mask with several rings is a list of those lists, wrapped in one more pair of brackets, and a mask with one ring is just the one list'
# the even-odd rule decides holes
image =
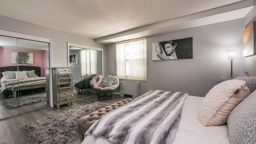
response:
{"label": "gray shag rug reflected in the left mirrored closet doors", "polygon": [[19,98],[6,99],[2,101],[2,105],[8,109],[18,108],[21,106],[27,106],[30,104],[36,104],[38,102],[46,101],[46,93],[33,94],[31,96],[23,96]]}

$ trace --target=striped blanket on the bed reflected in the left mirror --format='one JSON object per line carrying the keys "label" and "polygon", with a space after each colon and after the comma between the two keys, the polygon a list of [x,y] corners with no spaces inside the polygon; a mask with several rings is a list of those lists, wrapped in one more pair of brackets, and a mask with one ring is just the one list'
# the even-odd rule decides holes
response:
{"label": "striped blanket on the bed reflected in the left mirror", "polygon": [[0,93],[5,89],[10,90],[11,88],[26,87],[26,86],[35,86],[46,84],[46,77],[34,77],[34,78],[20,78],[17,79],[7,79],[2,82],[0,88]]}

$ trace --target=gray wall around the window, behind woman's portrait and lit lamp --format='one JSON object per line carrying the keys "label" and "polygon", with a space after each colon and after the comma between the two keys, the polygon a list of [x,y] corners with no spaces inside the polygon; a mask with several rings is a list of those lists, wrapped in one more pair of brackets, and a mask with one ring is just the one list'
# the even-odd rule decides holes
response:
{"label": "gray wall around the window, behind woman's portrait and lit lamp", "polygon": [[[233,62],[233,77],[244,73],[242,31],[244,19],[200,26],[147,37],[147,81],[140,94],[148,90],[187,92],[205,96],[218,81],[230,79],[230,60],[226,50],[238,49]],[[193,37],[193,58],[152,61],[152,43]],[[107,73],[116,75],[116,46],[106,48]]]}

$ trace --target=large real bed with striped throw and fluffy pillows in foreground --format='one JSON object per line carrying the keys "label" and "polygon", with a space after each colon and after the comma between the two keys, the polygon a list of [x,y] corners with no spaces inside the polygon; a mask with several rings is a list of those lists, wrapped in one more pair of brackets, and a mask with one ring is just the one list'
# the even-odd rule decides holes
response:
{"label": "large real bed with striped throw and fluffy pillows in foreground", "polygon": [[152,90],[94,122],[82,144],[254,144],[255,88],[245,73],[205,97]]}

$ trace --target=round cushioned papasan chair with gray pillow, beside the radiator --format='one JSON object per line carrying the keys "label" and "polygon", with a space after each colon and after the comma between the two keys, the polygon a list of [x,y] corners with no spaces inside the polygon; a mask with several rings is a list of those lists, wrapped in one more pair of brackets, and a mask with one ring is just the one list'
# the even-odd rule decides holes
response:
{"label": "round cushioned papasan chair with gray pillow, beside the radiator", "polygon": [[110,74],[99,74],[92,78],[90,86],[96,92],[99,100],[109,100],[119,86],[119,78]]}

